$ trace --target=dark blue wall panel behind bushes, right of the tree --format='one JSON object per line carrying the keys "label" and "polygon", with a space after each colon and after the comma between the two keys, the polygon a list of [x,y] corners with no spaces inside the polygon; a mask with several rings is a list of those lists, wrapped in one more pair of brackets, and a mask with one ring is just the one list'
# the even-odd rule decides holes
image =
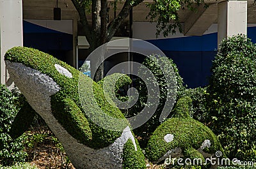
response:
{"label": "dark blue wall panel behind bushes, right of the tree", "polygon": [[[248,27],[248,38],[256,43],[256,27]],[[147,41],[173,59],[188,87],[204,87],[209,84],[212,60],[218,48],[217,33]]]}

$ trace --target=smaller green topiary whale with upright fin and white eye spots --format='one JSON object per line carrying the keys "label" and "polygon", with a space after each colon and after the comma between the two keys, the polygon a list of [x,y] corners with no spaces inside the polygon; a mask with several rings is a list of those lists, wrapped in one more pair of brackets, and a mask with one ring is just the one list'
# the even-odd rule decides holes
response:
{"label": "smaller green topiary whale with upright fin and white eye spots", "polygon": [[213,157],[215,152],[223,153],[221,144],[211,129],[189,116],[189,105],[191,98],[180,98],[175,106],[174,117],[163,122],[154,131],[146,149],[150,161],[160,163],[171,156],[173,159],[198,158],[204,163],[205,158]]}

